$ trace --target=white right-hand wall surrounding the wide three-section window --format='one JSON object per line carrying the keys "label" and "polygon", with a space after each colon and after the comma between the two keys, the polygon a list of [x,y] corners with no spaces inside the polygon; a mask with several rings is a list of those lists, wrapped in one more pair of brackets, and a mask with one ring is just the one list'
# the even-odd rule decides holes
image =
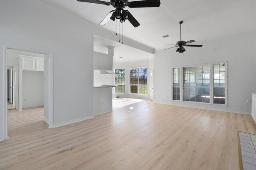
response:
{"label": "white right-hand wall surrounding the wide three-section window", "polygon": [[[252,93],[256,92],[256,31],[195,44],[202,44],[203,47],[185,47],[185,53],[177,53],[176,49],[156,51],[154,102],[251,113],[251,103],[246,103],[246,100],[251,99]],[[223,61],[228,61],[228,107],[171,101],[171,68],[173,66]],[[244,106],[241,107],[241,105]]]}

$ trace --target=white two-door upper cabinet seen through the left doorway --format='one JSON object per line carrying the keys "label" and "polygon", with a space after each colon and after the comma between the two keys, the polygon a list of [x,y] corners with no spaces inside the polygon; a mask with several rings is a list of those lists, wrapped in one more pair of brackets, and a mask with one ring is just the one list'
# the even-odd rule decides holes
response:
{"label": "white two-door upper cabinet seen through the left doorway", "polygon": [[20,55],[21,69],[31,71],[44,71],[44,59]]}

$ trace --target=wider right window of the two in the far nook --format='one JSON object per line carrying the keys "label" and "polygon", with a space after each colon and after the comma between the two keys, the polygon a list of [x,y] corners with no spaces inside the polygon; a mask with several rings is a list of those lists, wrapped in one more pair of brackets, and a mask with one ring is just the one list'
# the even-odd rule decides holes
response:
{"label": "wider right window of the two in the far nook", "polygon": [[130,69],[130,93],[148,94],[148,68]]}

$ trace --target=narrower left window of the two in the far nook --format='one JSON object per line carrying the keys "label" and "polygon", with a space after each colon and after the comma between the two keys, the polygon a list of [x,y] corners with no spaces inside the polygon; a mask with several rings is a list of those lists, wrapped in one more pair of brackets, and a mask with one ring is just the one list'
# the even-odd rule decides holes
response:
{"label": "narrower left window of the two in the far nook", "polygon": [[125,69],[116,69],[115,70],[115,84],[118,85],[115,88],[116,93],[124,93]]}

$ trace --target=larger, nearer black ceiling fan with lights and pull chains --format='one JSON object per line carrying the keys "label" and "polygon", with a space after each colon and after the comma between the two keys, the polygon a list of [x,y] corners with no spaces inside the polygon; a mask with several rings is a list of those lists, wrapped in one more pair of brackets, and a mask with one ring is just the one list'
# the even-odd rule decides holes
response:
{"label": "larger, nearer black ceiling fan with lights and pull chains", "polygon": [[141,1],[132,1],[128,0],[110,0],[110,2],[105,2],[101,0],[77,0],[79,2],[90,2],[94,4],[102,4],[110,6],[112,5],[115,10],[110,11],[108,15],[100,22],[99,25],[105,25],[109,20],[115,21],[120,19],[120,22],[123,23],[125,20],[130,21],[134,27],[138,27],[140,23],[132,16],[128,10],[124,10],[126,6],[129,8],[144,8],[144,7],[159,7],[160,0],[141,0]]}

